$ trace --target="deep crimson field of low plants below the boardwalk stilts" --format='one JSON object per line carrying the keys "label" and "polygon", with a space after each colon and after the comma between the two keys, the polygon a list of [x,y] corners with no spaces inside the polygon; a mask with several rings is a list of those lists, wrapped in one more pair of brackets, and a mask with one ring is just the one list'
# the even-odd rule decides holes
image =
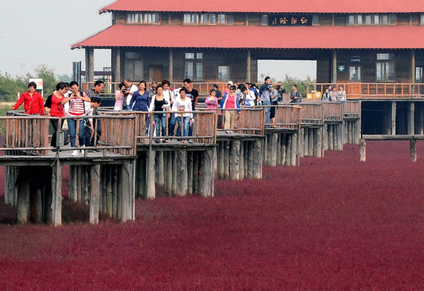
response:
{"label": "deep crimson field of low plants below the boardwalk stilts", "polygon": [[14,225],[1,183],[0,290],[423,290],[424,143],[416,163],[408,142],[366,150],[137,200],[129,223],[65,201],[77,222]]}

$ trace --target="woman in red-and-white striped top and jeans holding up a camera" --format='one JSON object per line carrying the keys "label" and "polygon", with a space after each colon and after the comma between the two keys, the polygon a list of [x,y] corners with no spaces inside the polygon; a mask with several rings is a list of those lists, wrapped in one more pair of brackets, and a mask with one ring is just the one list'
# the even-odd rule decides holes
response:
{"label": "woman in red-and-white striped top and jeans holding up a camera", "polygon": [[[85,115],[84,101],[90,102],[90,99],[86,93],[79,90],[79,85],[77,82],[72,81],[69,85],[71,88],[71,93],[62,101],[62,105],[65,105],[66,103],[69,104],[69,110],[65,114],[66,117],[75,117],[68,119],[68,130],[71,147],[76,146],[77,123],[79,123],[78,141],[80,147],[90,146],[90,137],[89,134],[88,137],[86,136],[87,130],[85,129],[87,121],[81,118]],[[81,152],[83,152],[83,150],[81,150]],[[71,156],[78,156],[78,150],[74,150],[71,153]]]}

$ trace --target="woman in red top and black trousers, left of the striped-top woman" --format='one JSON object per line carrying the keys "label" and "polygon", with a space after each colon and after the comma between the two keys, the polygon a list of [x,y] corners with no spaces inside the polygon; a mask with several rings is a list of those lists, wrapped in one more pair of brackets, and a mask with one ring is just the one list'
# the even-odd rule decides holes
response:
{"label": "woman in red top and black trousers, left of the striped-top woman", "polygon": [[[46,103],[44,104],[44,115],[52,117],[64,117],[65,110],[63,109],[62,101],[65,99],[63,95],[66,93],[65,84],[63,82],[56,85],[56,92],[47,97]],[[56,147],[56,131],[58,131],[59,120],[50,119],[50,123],[53,126],[54,132],[51,136],[52,147]],[[62,130],[63,122],[61,124]]]}

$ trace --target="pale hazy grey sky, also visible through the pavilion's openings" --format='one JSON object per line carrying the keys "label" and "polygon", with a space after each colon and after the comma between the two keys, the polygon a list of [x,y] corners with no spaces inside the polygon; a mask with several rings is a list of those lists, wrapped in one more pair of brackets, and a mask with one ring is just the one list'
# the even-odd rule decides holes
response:
{"label": "pale hazy grey sky, also visible through the pavilion's openings", "polygon": [[[70,45],[103,30],[112,23],[110,13],[97,11],[113,0],[0,0],[0,72],[12,76],[34,73],[42,64],[58,75],[72,74],[72,62],[82,61],[85,50]],[[22,66],[20,64],[23,64]],[[95,50],[95,70],[110,66],[110,50]],[[262,73],[283,80],[316,77],[316,62],[260,61]]]}

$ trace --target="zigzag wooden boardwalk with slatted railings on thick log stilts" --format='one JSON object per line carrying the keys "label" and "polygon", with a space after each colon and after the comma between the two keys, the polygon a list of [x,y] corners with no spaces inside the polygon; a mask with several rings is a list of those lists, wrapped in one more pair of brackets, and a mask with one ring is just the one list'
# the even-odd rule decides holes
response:
{"label": "zigzag wooden boardwalk with slatted railings on thick log stilts", "polygon": [[6,203],[16,207],[20,223],[60,225],[62,168],[69,165],[69,199],[89,206],[90,223],[98,223],[100,211],[134,220],[135,199],[155,198],[159,189],[165,195],[213,196],[215,177],[261,179],[263,164],[299,166],[301,157],[323,157],[325,150],[359,142],[360,102],[280,105],[270,124],[275,128],[267,129],[264,107],[242,108],[233,133],[217,129],[220,111],[195,111],[193,143],[182,144],[179,137],[154,142],[153,131],[146,130],[146,114],[152,118],[154,113],[104,110],[93,117],[102,122],[99,145],[84,149],[99,151],[76,157],[71,152],[77,148],[52,151],[49,145],[49,119],[58,118],[9,112],[3,117],[6,142],[0,148],[5,151],[0,165],[6,169]]}

